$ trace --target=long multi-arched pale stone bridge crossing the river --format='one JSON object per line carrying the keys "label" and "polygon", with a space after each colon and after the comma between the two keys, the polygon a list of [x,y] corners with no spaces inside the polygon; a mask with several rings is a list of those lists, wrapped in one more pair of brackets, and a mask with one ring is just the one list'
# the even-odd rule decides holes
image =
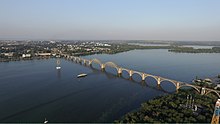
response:
{"label": "long multi-arched pale stone bridge crossing the river", "polygon": [[140,71],[135,71],[135,70],[132,70],[132,69],[123,68],[123,67],[118,66],[114,62],[102,63],[98,59],[90,59],[89,60],[89,59],[84,59],[84,58],[80,58],[80,57],[76,57],[76,56],[70,56],[70,55],[66,55],[66,54],[62,54],[62,56],[64,58],[66,58],[67,60],[71,60],[71,61],[81,63],[81,64],[84,64],[84,65],[87,65],[87,66],[92,66],[93,64],[98,64],[102,71],[104,71],[106,67],[115,68],[117,70],[117,75],[118,76],[121,76],[122,72],[125,71],[129,74],[130,78],[132,78],[132,76],[134,74],[140,75],[142,81],[145,81],[145,79],[147,77],[151,77],[151,78],[156,80],[157,85],[159,87],[161,86],[162,83],[164,83],[166,81],[166,82],[172,83],[175,86],[176,91],[178,91],[182,87],[191,87],[196,92],[200,93],[201,95],[208,95],[210,93],[214,93],[215,95],[218,96],[218,98],[220,98],[220,91],[218,91],[218,90],[214,90],[214,89],[210,89],[210,88],[206,88],[206,87],[201,87],[201,86],[197,86],[197,85],[192,85],[192,84],[188,84],[188,83],[185,83],[185,82],[176,81],[176,80],[164,78],[164,77],[161,77],[161,76],[148,74],[148,73],[145,73],[145,72],[140,72]]}

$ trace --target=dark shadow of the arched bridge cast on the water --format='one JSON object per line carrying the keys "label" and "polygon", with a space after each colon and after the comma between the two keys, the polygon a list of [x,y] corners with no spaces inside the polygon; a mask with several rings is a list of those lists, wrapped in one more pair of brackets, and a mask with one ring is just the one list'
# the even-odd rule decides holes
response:
{"label": "dark shadow of the arched bridge cast on the water", "polygon": [[96,74],[105,74],[105,76],[108,78],[108,79],[117,79],[117,78],[121,78],[123,80],[126,80],[126,81],[129,81],[129,82],[132,82],[132,83],[135,83],[135,84],[138,84],[140,85],[141,87],[143,88],[151,88],[151,89],[154,89],[154,90],[157,90],[157,91],[162,91],[163,93],[168,93],[168,94],[172,94],[172,93],[175,93],[174,92],[170,92],[170,91],[167,91],[165,89],[163,89],[163,87],[161,86],[151,86],[151,85],[148,85],[146,81],[139,81],[139,80],[135,80],[134,78],[132,77],[126,77],[126,76],[119,76],[119,75],[116,75],[116,74],[113,74],[111,72],[108,72],[108,71],[105,71],[105,70],[99,70],[97,68],[94,68],[92,66],[87,66],[87,65],[84,65],[84,64],[80,64],[80,65],[83,65],[85,67],[89,67],[91,68],[92,70],[92,73],[89,73],[88,75],[96,75]]}

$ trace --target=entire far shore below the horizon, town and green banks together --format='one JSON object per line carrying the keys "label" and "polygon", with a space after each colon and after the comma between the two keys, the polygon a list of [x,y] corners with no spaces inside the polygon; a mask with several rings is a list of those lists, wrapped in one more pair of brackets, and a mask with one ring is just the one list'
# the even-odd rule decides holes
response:
{"label": "entire far shore below the horizon, town and green banks together", "polygon": [[[136,44],[139,43],[139,44]],[[140,45],[142,44],[142,45]],[[146,45],[147,44],[147,45]],[[194,49],[183,45],[215,46]],[[0,62],[55,57],[56,54],[83,56],[114,54],[134,49],[168,49],[169,52],[220,53],[219,42],[174,41],[0,41]]]}

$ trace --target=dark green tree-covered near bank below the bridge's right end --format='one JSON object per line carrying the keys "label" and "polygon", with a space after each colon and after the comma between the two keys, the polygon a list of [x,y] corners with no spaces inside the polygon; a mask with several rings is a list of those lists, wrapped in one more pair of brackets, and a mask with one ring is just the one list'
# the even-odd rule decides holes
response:
{"label": "dark green tree-covered near bank below the bridge's right end", "polygon": [[[187,99],[188,98],[188,99]],[[141,104],[116,123],[210,123],[217,97],[193,90],[160,96]]]}

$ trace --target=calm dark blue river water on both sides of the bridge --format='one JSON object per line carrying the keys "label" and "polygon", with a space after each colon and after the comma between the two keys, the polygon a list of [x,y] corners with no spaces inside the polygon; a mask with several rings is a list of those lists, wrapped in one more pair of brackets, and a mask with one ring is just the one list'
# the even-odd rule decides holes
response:
{"label": "calm dark blue river water on both sides of the bridge", "polygon": [[[167,50],[133,50],[115,55],[91,55],[120,66],[191,82],[195,76],[220,73],[220,54],[170,53]],[[62,59],[60,71],[56,59],[0,63],[0,122],[112,122],[136,109],[143,101],[174,86],[163,83],[160,90],[152,79],[141,83],[115,76],[113,68],[106,72]],[[79,73],[87,73],[77,79]]]}

